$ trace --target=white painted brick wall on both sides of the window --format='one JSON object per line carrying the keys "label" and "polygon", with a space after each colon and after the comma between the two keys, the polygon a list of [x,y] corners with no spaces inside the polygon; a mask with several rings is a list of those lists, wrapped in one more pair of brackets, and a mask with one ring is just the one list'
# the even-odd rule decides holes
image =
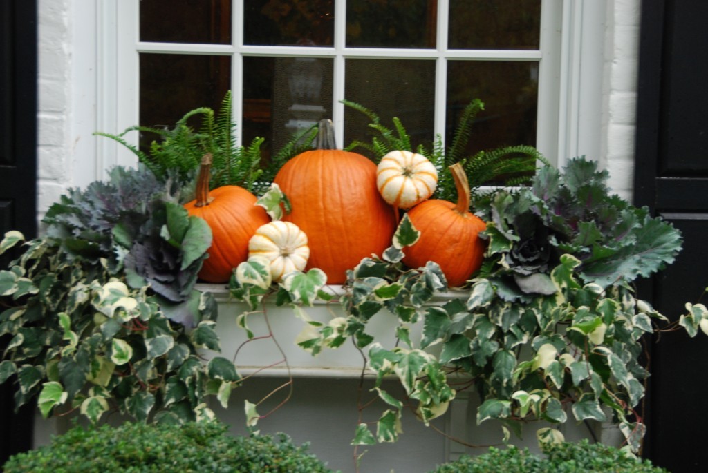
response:
{"label": "white painted brick wall on both sides of the window", "polygon": [[[610,186],[632,197],[634,109],[641,0],[607,1],[600,163]],[[72,26],[81,1],[39,0],[39,214],[72,186],[74,137],[80,112],[72,110]],[[77,91],[76,93],[79,93]],[[76,107],[76,105],[73,105]]]}

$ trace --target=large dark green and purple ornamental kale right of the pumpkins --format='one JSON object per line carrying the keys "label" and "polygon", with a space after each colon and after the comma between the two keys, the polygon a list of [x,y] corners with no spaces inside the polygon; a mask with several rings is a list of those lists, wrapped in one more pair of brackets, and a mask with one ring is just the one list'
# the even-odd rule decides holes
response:
{"label": "large dark green and purple ornamental kale right of the pumpkins", "polygon": [[481,277],[505,300],[552,294],[561,255],[580,262],[584,284],[607,288],[649,276],[674,261],[679,230],[636,208],[607,187],[608,173],[586,158],[561,173],[540,168],[530,187],[501,190],[486,202],[488,255]]}

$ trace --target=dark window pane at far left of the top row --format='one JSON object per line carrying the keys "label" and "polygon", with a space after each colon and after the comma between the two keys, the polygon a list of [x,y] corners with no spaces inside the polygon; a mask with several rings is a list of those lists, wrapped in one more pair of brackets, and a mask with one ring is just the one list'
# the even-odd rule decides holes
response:
{"label": "dark window pane at far left of the top row", "polygon": [[231,0],[140,0],[140,40],[231,43]]}

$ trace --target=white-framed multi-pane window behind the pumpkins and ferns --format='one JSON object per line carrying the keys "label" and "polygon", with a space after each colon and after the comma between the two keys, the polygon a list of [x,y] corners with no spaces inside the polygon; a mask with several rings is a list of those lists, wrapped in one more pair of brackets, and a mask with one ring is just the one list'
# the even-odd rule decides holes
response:
{"label": "white-framed multi-pane window behind the pumpkins and ferns", "polygon": [[[367,132],[367,119],[343,99],[384,123],[400,117],[430,142],[449,139],[459,110],[480,98],[472,147],[532,144],[558,162],[578,154],[571,148],[588,129],[580,90],[588,76],[602,82],[601,67],[580,74],[597,38],[590,33],[602,32],[602,3],[113,0],[96,11],[94,129],[171,125],[195,107],[217,108],[230,89],[242,143],[264,136],[277,149],[290,132],[331,117],[347,144]],[[99,170],[135,162],[106,141]]]}

